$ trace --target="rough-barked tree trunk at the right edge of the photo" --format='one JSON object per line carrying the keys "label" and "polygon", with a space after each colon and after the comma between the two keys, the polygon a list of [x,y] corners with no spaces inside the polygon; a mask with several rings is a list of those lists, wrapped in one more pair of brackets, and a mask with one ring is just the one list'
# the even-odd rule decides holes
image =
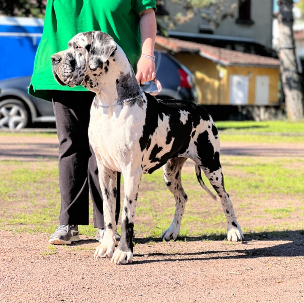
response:
{"label": "rough-barked tree trunk at the right edge of the photo", "polygon": [[279,59],[287,117],[291,121],[303,119],[303,92],[295,57],[293,38],[293,0],[278,0]]}

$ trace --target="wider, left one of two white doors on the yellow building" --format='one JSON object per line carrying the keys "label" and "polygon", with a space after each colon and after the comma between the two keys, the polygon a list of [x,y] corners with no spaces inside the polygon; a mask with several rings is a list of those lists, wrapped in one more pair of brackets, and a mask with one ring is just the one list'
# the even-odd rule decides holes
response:
{"label": "wider, left one of two white doors on the yellow building", "polygon": [[249,78],[243,75],[230,75],[229,82],[229,103],[248,104]]}

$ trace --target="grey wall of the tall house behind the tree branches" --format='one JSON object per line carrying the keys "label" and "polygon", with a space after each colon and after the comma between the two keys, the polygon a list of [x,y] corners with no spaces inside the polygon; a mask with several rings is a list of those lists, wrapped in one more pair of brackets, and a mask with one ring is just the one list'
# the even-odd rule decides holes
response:
{"label": "grey wall of the tall house behind the tree branches", "polygon": [[[166,0],[166,10],[171,16],[178,13],[186,15],[180,6],[174,5],[171,1]],[[235,36],[251,38],[254,42],[271,47],[272,39],[272,1],[251,0],[251,20],[253,24],[239,24],[238,19],[238,0],[223,1],[225,12],[233,8],[233,18],[228,17],[219,22],[219,26],[213,30],[214,35]],[[189,21],[176,26],[173,30],[177,32],[199,33],[199,22],[201,14],[197,12]]]}

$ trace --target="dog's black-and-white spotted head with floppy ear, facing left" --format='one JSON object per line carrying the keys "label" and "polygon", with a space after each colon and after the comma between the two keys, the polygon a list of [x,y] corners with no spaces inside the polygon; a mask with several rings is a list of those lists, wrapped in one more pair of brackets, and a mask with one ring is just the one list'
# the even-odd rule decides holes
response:
{"label": "dog's black-and-white spotted head with floppy ear, facing left", "polygon": [[68,43],[68,49],[51,56],[53,75],[60,85],[74,87],[90,83],[92,73],[96,76],[108,71],[109,57],[114,58],[117,45],[105,32],[84,32],[74,36]]}

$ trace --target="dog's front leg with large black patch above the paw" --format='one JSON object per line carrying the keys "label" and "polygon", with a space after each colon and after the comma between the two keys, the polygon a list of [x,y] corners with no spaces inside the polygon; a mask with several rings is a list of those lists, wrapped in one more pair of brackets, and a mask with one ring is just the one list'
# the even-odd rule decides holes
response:
{"label": "dog's front leg with large black patch above the paw", "polygon": [[142,171],[140,169],[123,173],[125,199],[121,218],[121,237],[112,257],[112,262],[115,264],[132,263],[134,218],[141,176]]}

